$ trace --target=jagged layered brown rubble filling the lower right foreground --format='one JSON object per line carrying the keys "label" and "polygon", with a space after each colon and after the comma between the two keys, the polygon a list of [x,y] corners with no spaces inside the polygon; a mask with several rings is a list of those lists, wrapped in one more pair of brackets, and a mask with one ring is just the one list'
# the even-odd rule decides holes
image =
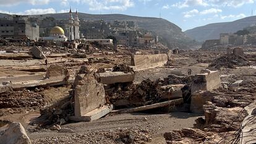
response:
{"label": "jagged layered brown rubble filling the lower right foreground", "polygon": [[[211,73],[208,74],[214,78]],[[211,82],[209,78],[206,80]],[[216,82],[216,78],[214,79]],[[192,87],[193,85],[192,83]],[[247,115],[244,108],[255,101],[255,96],[254,91],[251,90],[237,91],[241,87],[236,87],[234,91],[234,87],[229,88],[230,91],[221,86],[192,91],[190,111],[204,114],[205,118],[196,119],[193,129],[164,133],[166,142],[230,143],[239,141],[241,122]]]}

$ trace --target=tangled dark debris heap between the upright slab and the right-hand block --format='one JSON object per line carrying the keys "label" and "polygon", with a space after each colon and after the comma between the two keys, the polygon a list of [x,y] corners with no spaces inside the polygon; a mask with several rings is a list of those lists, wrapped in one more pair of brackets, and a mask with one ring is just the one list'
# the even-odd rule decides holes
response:
{"label": "tangled dark debris heap between the upright slab and the right-hand block", "polygon": [[191,77],[169,75],[164,80],[143,80],[141,83],[115,83],[106,90],[115,106],[145,106],[163,100],[182,98],[182,88],[192,82]]}

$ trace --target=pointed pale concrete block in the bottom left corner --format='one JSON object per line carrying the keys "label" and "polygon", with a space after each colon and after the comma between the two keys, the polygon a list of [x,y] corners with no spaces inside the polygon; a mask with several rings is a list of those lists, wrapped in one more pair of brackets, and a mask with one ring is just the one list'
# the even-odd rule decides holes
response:
{"label": "pointed pale concrete block in the bottom left corner", "polygon": [[12,122],[7,125],[8,128],[0,136],[0,143],[4,144],[31,144],[25,129],[19,122]]}

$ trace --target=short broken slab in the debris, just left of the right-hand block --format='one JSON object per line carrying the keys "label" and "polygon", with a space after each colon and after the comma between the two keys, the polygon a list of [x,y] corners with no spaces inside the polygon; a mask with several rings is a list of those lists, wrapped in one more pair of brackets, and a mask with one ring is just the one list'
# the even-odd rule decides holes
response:
{"label": "short broken slab in the debris, just left of the right-hand block", "polygon": [[182,98],[182,90],[184,85],[164,85],[160,88],[161,99],[174,100],[177,98]]}

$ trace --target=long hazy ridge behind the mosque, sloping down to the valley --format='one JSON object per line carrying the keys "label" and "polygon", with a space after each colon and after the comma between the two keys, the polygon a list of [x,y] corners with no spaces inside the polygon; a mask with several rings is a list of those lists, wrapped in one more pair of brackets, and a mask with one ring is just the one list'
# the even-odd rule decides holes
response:
{"label": "long hazy ridge behind the mosque, sloping down to the valley", "polygon": [[[1,15],[0,15],[1,16]],[[31,15],[32,17],[54,17],[54,19],[68,19],[69,13],[62,14],[44,14],[44,15]],[[189,36],[182,32],[174,23],[169,22],[168,20],[153,18],[153,17],[135,17],[130,15],[122,14],[85,14],[79,13],[79,19],[84,20],[100,20],[105,21],[114,21],[114,20],[134,20],[137,22],[139,28],[155,33],[160,37],[161,42],[168,45],[168,48],[173,49],[176,47],[189,49],[195,48],[197,43],[193,41]]]}

